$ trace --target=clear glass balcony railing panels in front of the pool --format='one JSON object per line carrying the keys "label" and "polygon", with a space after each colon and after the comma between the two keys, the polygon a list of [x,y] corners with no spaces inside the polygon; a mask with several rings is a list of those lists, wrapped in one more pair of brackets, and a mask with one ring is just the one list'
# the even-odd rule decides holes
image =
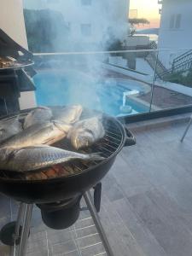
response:
{"label": "clear glass balcony railing panels in front of the pool", "polygon": [[190,51],[34,54],[38,105],[82,104],[114,116],[192,106]]}

